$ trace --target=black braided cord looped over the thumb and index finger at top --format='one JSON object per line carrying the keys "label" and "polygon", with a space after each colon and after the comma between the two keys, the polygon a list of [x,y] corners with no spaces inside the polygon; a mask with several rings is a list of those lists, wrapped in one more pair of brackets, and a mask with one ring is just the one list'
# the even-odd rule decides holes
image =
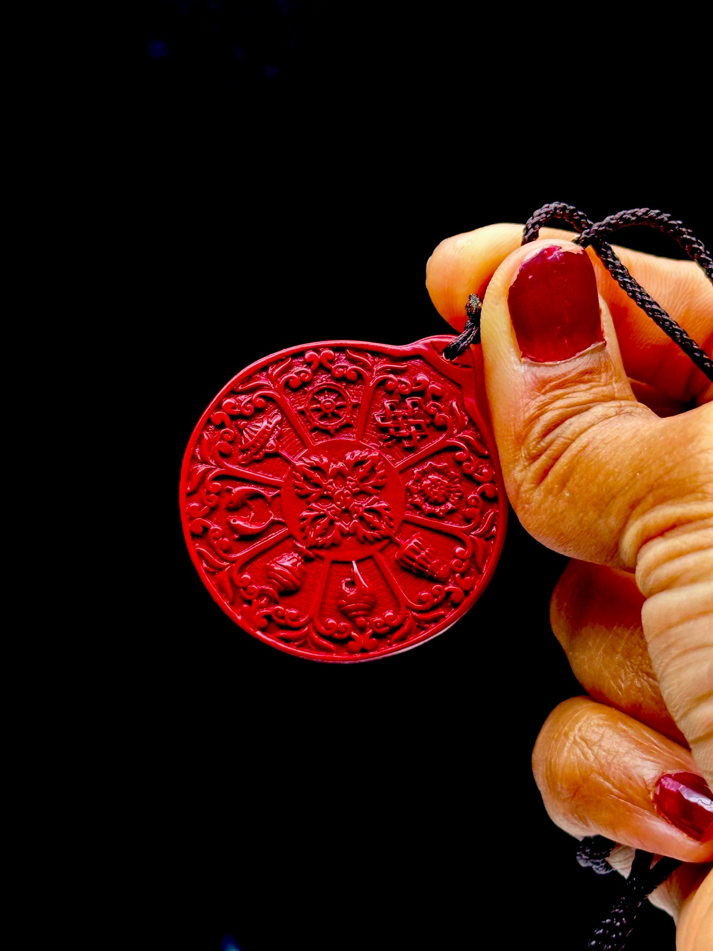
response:
{"label": "black braided cord looped over the thumb and index finger at top", "polygon": [[[620,211],[616,215],[609,215],[602,222],[590,221],[583,211],[579,211],[572,204],[553,202],[544,204],[531,216],[525,225],[523,244],[534,241],[539,235],[543,224],[561,219],[571,224],[580,234],[574,239],[575,243],[583,247],[590,245],[601,259],[609,274],[626,291],[634,301],[661,329],[677,343],[684,353],[703,371],[703,374],[713,380],[713,359],[711,359],[673,318],[665,312],[661,304],[650,297],[644,288],[635,281],[626,265],[619,260],[613,248],[606,239],[615,231],[631,227],[636,224],[645,224],[658,228],[669,238],[676,241],[686,255],[703,268],[703,273],[709,281],[713,281],[713,258],[705,249],[703,242],[684,227],[682,222],[676,221],[665,211],[656,208],[632,208],[629,211]],[[472,294],[466,305],[466,326],[463,333],[453,340],[453,343],[443,351],[446,359],[459,357],[472,342],[480,340],[480,310],[481,301]]]}

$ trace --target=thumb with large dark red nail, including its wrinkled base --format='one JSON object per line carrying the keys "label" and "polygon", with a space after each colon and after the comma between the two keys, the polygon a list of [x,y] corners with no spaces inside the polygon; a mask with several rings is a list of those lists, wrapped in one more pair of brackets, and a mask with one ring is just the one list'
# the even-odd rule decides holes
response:
{"label": "thumb with large dark red nail, including its wrinkled base", "polygon": [[634,398],[588,256],[506,258],[483,302],[495,440],[512,506],[555,551],[636,570],[665,702],[713,778],[713,403],[661,419]]}

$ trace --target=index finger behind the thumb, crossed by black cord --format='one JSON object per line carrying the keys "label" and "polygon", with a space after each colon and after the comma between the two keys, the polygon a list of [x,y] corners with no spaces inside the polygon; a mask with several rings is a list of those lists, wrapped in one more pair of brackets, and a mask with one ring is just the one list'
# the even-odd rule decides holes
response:
{"label": "index finger behind the thumb, crossed by black cord", "polygon": [[[481,299],[492,275],[522,242],[521,224],[489,224],[441,242],[426,269],[426,286],[438,313],[456,330],[465,324],[471,294]],[[543,228],[541,238],[571,240],[571,231]],[[670,261],[624,247],[614,248],[626,267],[677,320],[706,353],[713,348],[713,287],[694,262]],[[614,320],[622,359],[629,377],[656,387],[681,402],[713,399],[713,383],[705,378],[673,340],[668,338],[609,275],[595,252],[597,287]]]}

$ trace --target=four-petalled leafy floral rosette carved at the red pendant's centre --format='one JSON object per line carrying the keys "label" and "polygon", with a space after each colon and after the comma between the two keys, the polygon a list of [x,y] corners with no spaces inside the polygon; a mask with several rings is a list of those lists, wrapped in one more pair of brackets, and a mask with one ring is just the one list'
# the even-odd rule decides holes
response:
{"label": "four-petalled leafy floral rosette carved at the red pendant's centre", "polygon": [[379,497],[387,477],[386,462],[376,450],[353,449],[337,458],[302,456],[293,485],[307,503],[299,513],[305,545],[329,548],[349,535],[359,542],[392,537],[394,514],[389,502]]}

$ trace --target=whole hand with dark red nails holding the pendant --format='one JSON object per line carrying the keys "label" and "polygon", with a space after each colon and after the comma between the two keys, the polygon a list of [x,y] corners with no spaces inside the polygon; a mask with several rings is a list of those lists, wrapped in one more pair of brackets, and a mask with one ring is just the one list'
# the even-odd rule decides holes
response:
{"label": "whole hand with dark red nails holding the pendant", "polygon": [[[633,848],[686,863],[654,900],[679,916],[679,951],[704,951],[711,815],[703,808],[703,827],[685,830],[680,797],[660,790],[656,805],[654,794],[680,772],[713,786],[713,384],[592,251],[568,232],[540,235],[520,247],[518,225],[480,228],[441,243],[427,268],[457,330],[469,295],[484,298],[486,388],[511,504],[530,534],[576,559],[551,619],[594,699],[550,714],[535,778],[558,825],[628,846],[614,864],[630,864]],[[713,289],[698,266],[617,253],[710,352]]]}

